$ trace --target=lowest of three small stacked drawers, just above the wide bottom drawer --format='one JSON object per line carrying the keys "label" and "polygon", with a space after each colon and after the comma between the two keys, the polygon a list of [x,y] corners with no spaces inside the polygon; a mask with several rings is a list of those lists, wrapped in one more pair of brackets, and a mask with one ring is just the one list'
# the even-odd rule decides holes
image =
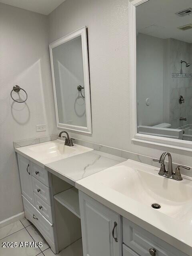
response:
{"label": "lowest of three small stacked drawers, just above the wide bottom drawer", "polygon": [[35,198],[35,206],[37,210],[52,223],[52,213],[51,213],[51,206],[46,204],[44,200],[42,200],[38,195],[34,193]]}

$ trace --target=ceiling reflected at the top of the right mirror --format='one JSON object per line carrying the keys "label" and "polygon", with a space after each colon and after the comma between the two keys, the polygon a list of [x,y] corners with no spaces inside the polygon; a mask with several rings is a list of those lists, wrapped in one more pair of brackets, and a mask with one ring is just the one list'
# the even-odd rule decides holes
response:
{"label": "ceiling reflected at the top of the right mirror", "polygon": [[149,0],[136,7],[137,32],[192,43],[192,29],[178,29],[192,23],[192,14],[184,17],[175,14],[186,8],[192,8],[192,0]]}

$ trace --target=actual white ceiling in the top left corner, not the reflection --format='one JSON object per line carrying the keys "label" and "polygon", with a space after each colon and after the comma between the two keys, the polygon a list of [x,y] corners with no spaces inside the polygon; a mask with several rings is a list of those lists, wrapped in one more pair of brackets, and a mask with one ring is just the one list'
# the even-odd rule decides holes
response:
{"label": "actual white ceiling in the top left corner, not the reflection", "polygon": [[3,4],[12,5],[32,12],[48,15],[65,0],[0,0]]}

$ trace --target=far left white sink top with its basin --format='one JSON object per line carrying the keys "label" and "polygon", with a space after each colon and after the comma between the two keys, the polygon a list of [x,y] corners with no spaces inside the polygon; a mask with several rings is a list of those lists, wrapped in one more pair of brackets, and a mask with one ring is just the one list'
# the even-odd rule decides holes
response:
{"label": "far left white sink top with its basin", "polygon": [[66,146],[64,140],[53,140],[44,143],[34,144],[30,146],[25,146],[21,148],[16,148],[16,152],[28,156],[37,164],[44,166],[50,162],[68,158],[70,156],[75,156],[88,151],[93,150],[92,148],[87,148],[74,144],[74,146]]}

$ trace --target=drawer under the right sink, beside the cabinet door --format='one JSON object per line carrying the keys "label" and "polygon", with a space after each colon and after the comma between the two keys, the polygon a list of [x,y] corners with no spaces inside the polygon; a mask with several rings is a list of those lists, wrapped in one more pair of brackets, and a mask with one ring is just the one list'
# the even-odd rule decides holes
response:
{"label": "drawer under the right sink, beside the cabinet door", "polygon": [[150,256],[150,249],[155,249],[157,256],[186,256],[186,254],[180,250],[126,218],[123,218],[123,242],[142,256]]}

